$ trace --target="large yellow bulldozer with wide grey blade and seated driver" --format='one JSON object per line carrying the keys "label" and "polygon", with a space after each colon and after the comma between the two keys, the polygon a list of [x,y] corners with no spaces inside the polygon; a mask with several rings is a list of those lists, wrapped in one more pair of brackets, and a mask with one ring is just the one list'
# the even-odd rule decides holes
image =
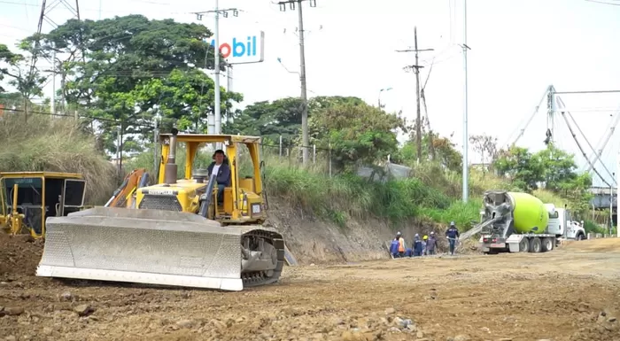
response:
{"label": "large yellow bulldozer with wide grey blade and seated driver", "polygon": [[[275,283],[284,265],[283,236],[266,220],[260,137],[160,136],[158,183],[136,190],[135,203],[50,217],[36,275],[241,291]],[[177,179],[177,144],[185,144]],[[221,143],[205,169],[199,147]],[[239,148],[252,175],[239,174]],[[113,197],[112,197],[113,198]],[[135,207],[135,208],[131,208]]]}

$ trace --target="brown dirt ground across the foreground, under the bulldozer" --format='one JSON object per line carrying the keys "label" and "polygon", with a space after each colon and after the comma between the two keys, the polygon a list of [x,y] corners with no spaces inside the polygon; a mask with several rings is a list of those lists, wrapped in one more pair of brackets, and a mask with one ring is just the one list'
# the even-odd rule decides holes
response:
{"label": "brown dirt ground across the foreground, under the bulldozer", "polygon": [[620,239],[287,267],[242,292],[61,282],[0,236],[0,340],[620,340]]}

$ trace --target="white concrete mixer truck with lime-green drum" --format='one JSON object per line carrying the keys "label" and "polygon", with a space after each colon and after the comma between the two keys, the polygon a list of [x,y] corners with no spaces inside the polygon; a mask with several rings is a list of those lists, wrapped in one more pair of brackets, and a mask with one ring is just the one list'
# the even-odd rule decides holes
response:
{"label": "white concrete mixer truck with lime-green drum", "polygon": [[583,221],[572,221],[570,210],[543,204],[531,194],[489,190],[483,205],[484,253],[548,252],[562,239],[585,239]]}

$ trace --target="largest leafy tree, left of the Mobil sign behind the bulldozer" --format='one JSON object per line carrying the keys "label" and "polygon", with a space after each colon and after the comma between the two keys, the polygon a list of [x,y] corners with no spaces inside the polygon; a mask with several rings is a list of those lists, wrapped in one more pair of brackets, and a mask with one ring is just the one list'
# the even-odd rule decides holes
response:
{"label": "largest leafy tree, left of the Mobil sign behind the bulldozer", "polygon": [[[144,133],[160,102],[168,120],[202,129],[206,114],[214,111],[213,81],[196,68],[213,69],[214,50],[205,43],[211,35],[203,25],[128,15],[71,19],[23,45],[34,50],[39,42],[41,56],[52,51],[61,56],[67,103],[88,108],[99,120],[106,149],[113,150],[111,132],[119,123],[123,134]],[[221,92],[224,110],[228,99],[240,98]]]}

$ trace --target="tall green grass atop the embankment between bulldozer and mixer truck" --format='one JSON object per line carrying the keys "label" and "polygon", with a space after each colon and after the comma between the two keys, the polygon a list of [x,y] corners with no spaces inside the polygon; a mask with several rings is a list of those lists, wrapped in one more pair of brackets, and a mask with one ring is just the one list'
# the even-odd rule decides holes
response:
{"label": "tall green grass atop the embankment between bulldozer and mixer truck", "polygon": [[[468,229],[479,215],[480,200],[462,204],[454,198],[451,179],[434,176],[370,182],[353,174],[329,177],[321,168],[303,168],[288,159],[266,157],[266,186],[283,198],[337,223],[347,218],[383,218],[397,224],[407,220],[455,221]],[[422,175],[420,171],[418,175]],[[441,175],[440,175],[441,176]],[[430,183],[429,183],[430,182]],[[460,187],[459,187],[460,192]]]}

